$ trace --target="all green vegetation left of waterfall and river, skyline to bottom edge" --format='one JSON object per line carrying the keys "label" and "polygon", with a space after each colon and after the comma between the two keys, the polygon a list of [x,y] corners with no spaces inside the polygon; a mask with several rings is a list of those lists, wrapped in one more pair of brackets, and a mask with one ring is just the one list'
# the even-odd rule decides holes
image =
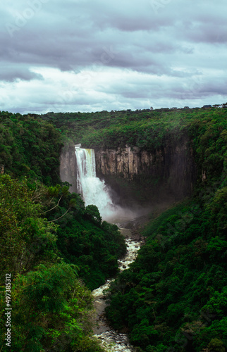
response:
{"label": "all green vegetation left of waterfall and river, skyline to bottom edge", "polygon": [[62,143],[53,125],[6,112],[0,119],[0,349],[101,352],[89,289],[118,272],[123,236],[57,183]]}

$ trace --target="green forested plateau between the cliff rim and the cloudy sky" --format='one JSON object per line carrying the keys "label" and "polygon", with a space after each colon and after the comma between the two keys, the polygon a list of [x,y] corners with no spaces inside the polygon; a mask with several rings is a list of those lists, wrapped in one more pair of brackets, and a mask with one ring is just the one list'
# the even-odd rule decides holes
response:
{"label": "green forested plateau between the cliff rim and the cloudy sky", "polygon": [[[63,136],[85,148],[138,146],[154,151],[179,142],[195,132],[201,136],[218,124],[223,130],[227,109],[183,109],[174,111],[102,111],[97,113],[47,113],[44,120],[61,129]],[[212,127],[212,128],[213,128]],[[204,139],[212,134],[212,128]],[[215,137],[215,136],[213,136]]]}

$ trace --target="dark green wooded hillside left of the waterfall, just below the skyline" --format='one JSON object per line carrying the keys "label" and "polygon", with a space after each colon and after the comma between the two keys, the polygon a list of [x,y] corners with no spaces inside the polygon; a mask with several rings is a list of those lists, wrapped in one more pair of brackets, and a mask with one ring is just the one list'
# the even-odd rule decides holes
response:
{"label": "dark green wooded hillside left of the waterfall, just below the skyline", "polygon": [[14,177],[27,175],[45,184],[59,182],[61,134],[30,115],[0,112],[0,165]]}

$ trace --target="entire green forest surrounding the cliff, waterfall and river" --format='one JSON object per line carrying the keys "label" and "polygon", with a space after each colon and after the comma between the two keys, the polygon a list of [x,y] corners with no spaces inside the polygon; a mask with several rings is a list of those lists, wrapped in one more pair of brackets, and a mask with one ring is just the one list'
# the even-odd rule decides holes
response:
{"label": "entire green forest surrounding the cliff, waterfall and river", "polygon": [[152,152],[185,136],[198,170],[193,194],[152,213],[106,315],[137,352],[227,351],[226,116],[225,108],[0,113],[2,351],[7,273],[12,351],[102,351],[90,290],[117,274],[126,248],[118,227],[61,182],[62,146]]}

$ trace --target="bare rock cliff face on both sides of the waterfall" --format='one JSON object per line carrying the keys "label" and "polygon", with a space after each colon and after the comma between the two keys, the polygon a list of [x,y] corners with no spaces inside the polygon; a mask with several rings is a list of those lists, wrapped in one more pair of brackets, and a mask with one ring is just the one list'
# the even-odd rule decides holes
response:
{"label": "bare rock cliff face on both sides of the waterfall", "polygon": [[[126,145],[94,153],[97,177],[111,187],[112,198],[121,206],[172,203],[192,194],[198,172],[186,138],[154,151]],[[61,151],[60,175],[71,184],[70,191],[78,191],[73,146]]]}

